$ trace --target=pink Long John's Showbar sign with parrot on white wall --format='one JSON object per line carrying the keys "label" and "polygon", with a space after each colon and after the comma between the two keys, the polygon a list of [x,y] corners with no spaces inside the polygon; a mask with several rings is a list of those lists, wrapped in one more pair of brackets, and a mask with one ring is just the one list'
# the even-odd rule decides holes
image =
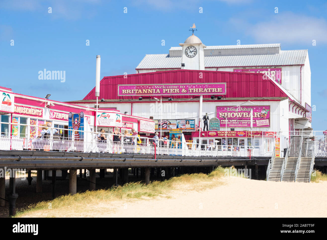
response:
{"label": "pink Long John's Showbar sign with parrot on white wall", "polygon": [[270,126],[270,106],[217,106],[220,127],[251,127],[250,113],[253,109],[253,127]]}

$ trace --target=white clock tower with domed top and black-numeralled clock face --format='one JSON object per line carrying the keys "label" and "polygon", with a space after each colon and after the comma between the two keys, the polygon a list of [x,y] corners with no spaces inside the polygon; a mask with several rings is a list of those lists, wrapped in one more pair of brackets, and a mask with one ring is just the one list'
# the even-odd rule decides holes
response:
{"label": "white clock tower with domed top and black-numeralled clock face", "polygon": [[204,70],[204,50],[206,47],[201,40],[192,33],[184,43],[180,43],[182,46],[182,62],[185,67],[182,69],[189,70]]}

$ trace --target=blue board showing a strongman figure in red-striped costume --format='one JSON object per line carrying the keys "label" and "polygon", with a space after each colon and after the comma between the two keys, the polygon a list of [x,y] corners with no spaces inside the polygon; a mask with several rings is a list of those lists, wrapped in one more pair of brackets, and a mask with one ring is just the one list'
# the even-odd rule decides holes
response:
{"label": "blue board showing a strongman figure in red-striped costume", "polygon": [[74,141],[82,141],[84,138],[84,133],[76,130],[84,130],[84,112],[80,113],[69,113],[68,114],[68,137],[72,139],[74,136]]}

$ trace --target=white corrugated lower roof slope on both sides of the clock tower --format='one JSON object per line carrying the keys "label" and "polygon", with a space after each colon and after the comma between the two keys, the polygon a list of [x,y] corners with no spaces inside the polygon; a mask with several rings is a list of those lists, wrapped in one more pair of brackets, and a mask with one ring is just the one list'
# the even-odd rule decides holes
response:
{"label": "white corrugated lower roof slope on both sides of the clock tower", "polygon": [[[204,56],[205,67],[282,66],[304,64],[308,50],[280,51],[279,54]],[[181,68],[181,57],[146,55],[136,69]]]}

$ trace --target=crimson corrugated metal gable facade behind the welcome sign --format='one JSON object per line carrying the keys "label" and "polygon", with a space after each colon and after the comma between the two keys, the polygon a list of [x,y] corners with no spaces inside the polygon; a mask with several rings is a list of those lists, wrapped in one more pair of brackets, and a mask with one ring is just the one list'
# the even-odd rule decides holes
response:
{"label": "crimson corrugated metal gable facade behind the welcome sign", "polygon": [[[199,76],[202,74],[202,78]],[[165,83],[226,83],[226,98],[260,98],[287,97],[272,80],[263,77],[263,73],[220,72],[201,70],[172,70],[163,72],[147,72],[120,76],[104,77],[100,81],[100,99],[123,99],[118,96],[119,84],[165,84]],[[167,95],[169,96],[169,95]],[[192,95],[197,96],[197,95]],[[139,96],[128,96],[124,99],[138,99]],[[210,95],[203,95],[210,98]],[[190,95],[174,96],[174,98],[191,98]],[[84,100],[95,98],[95,88]]]}

